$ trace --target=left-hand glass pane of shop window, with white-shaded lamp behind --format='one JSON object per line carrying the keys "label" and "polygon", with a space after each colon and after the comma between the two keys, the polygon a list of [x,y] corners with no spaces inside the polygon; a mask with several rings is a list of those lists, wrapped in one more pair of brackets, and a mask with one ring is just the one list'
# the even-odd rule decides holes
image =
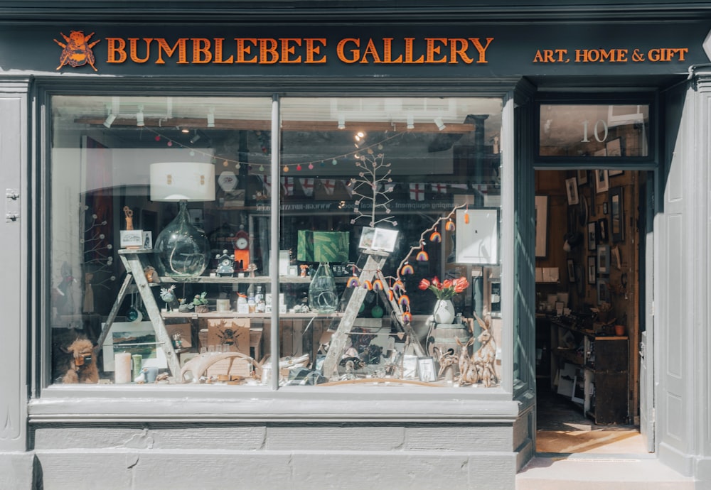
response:
{"label": "left-hand glass pane of shop window, with white-shaded lamp behind", "polygon": [[250,165],[269,162],[271,100],[53,97],[52,110],[52,379],[260,383],[266,309],[237,299],[266,273],[247,192]]}

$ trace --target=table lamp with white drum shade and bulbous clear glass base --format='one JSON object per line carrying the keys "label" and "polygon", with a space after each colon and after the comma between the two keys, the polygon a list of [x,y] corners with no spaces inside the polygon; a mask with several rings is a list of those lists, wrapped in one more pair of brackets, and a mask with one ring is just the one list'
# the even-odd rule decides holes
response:
{"label": "table lamp with white drum shade and bulbous clear glass base", "polygon": [[188,201],[215,200],[215,165],[165,162],[151,164],[151,200],[178,202],[178,215],[154,244],[156,269],[161,276],[200,276],[212,254],[205,232],[191,223]]}

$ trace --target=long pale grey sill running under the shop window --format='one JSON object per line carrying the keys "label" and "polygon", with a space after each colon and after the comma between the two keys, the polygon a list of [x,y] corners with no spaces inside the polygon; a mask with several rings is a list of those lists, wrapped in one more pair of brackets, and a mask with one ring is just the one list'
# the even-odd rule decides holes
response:
{"label": "long pale grey sill running under the shop window", "polygon": [[501,388],[50,386],[30,423],[410,422],[513,423],[520,406]]}

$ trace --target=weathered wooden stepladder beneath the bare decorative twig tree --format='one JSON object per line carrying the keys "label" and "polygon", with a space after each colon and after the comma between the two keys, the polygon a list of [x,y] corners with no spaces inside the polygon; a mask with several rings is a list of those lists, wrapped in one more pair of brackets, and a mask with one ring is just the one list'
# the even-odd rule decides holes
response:
{"label": "weathered wooden stepladder beneath the bare decorative twig tree", "polygon": [[[365,266],[363,266],[363,269],[360,271],[358,281],[360,284],[364,284],[365,281],[372,282],[373,278],[380,279],[383,283],[383,290],[380,290],[380,294],[383,295],[385,300],[390,303],[390,307],[392,307],[393,312],[395,312],[394,316],[400,324],[402,331],[410,336],[411,345],[413,349],[415,349],[415,354],[418,356],[427,356],[424,348],[421,344],[419,344],[419,340],[415,335],[415,331],[412,330],[412,326],[402,320],[402,309],[400,308],[400,305],[397,304],[395,298],[390,299],[390,295],[388,294],[390,286],[387,284],[387,280],[385,279],[385,276],[383,276],[383,272],[380,271],[380,268],[383,267],[387,256],[390,254],[379,251],[365,251],[364,253],[368,254],[368,260],[365,261]],[[376,256],[377,258],[375,258]],[[326,359],[324,360],[323,373],[326,378],[330,378],[336,369],[338,369],[338,361],[341,360],[343,351],[346,350],[348,335],[351,333],[351,330],[353,330],[353,322],[355,322],[355,317],[358,316],[360,305],[363,303],[363,300],[365,300],[365,295],[367,293],[368,290],[366,288],[355,288],[353,294],[351,295],[351,299],[348,300],[348,306],[346,306],[346,310],[343,312],[343,317],[341,318],[341,322],[338,324],[338,329],[333,334],[333,337],[331,337],[331,345],[328,347],[328,353],[326,354]]]}

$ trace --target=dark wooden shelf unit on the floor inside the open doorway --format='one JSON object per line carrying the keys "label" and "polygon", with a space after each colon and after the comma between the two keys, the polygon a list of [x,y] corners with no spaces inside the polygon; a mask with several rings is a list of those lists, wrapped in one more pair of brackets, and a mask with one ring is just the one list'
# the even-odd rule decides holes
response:
{"label": "dark wooden shelf unit on the floor inside the open doorway", "polygon": [[572,319],[550,320],[551,383],[598,425],[628,419],[628,337],[607,337]]}

